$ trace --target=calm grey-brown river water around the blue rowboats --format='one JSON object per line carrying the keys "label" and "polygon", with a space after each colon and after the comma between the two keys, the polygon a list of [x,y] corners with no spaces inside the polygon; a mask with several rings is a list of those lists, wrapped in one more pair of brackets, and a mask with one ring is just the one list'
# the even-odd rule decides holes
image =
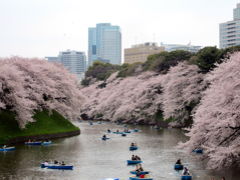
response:
{"label": "calm grey-brown river water around the blue rowboats", "polygon": [[[126,160],[132,154],[139,155],[145,170],[150,170],[154,180],[180,180],[180,174],[173,170],[173,165],[181,158],[193,174],[193,180],[217,180],[224,175],[227,180],[239,180],[240,173],[220,174],[205,169],[203,162],[196,155],[188,155],[176,148],[179,141],[185,141],[183,132],[176,129],[156,130],[148,126],[137,126],[141,132],[131,133],[127,137],[108,134],[111,138],[102,141],[101,136],[107,129],[122,130],[123,126],[111,123],[90,126],[88,123],[77,124],[81,135],[59,139],[50,146],[16,146],[13,152],[0,153],[0,179],[6,180],[102,180],[120,178],[127,180],[129,171],[134,166],[127,166]],[[134,126],[135,127],[135,126]],[[129,128],[134,128],[129,126]],[[139,150],[129,152],[131,142],[137,142]],[[41,169],[44,160],[65,161],[74,165],[74,170]]]}

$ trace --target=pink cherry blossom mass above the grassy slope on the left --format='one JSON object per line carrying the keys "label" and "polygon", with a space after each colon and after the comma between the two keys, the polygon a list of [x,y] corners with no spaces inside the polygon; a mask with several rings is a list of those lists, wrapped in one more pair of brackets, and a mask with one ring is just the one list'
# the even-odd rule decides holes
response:
{"label": "pink cherry blossom mass above the grassy slope on the left", "polygon": [[44,109],[76,119],[83,101],[76,77],[62,65],[20,57],[0,59],[0,108],[16,113],[20,127]]}

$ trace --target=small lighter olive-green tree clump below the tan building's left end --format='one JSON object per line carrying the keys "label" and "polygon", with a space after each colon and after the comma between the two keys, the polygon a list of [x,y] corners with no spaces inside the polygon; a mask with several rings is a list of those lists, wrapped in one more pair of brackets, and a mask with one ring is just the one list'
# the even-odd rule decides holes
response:
{"label": "small lighter olive-green tree clump below the tan building's left end", "polygon": [[118,77],[134,76],[142,70],[142,63],[123,64],[119,70]]}

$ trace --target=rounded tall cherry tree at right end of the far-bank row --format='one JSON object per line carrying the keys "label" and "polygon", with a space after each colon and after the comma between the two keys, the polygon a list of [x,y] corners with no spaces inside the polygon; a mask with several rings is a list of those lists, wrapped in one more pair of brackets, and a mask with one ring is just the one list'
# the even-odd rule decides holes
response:
{"label": "rounded tall cherry tree at right end of the far-bank row", "polygon": [[196,65],[181,62],[171,67],[164,78],[163,114],[164,118],[174,118],[174,126],[185,127],[191,124],[191,113],[201,98],[205,87],[204,75]]}

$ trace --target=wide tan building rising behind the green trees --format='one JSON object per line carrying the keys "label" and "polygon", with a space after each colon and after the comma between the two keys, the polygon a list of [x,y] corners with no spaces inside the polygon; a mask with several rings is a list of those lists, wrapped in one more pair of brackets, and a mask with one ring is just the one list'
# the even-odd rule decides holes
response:
{"label": "wide tan building rising behind the green trees", "polygon": [[156,43],[144,43],[133,45],[131,48],[124,49],[124,63],[132,64],[135,62],[145,62],[147,57],[164,51],[164,47],[157,46]]}

